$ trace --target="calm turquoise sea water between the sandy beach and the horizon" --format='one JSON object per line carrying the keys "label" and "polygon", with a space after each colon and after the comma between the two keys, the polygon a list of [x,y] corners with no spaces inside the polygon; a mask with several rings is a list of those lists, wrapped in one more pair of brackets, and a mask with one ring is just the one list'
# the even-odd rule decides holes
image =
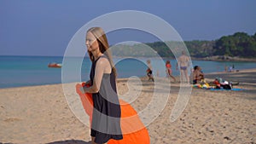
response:
{"label": "calm turquoise sea water between the sandy beach and the horizon", "polygon": [[[12,88],[42,84],[61,84],[61,68],[49,68],[50,62],[62,63],[63,57],[51,56],[0,56],[0,88]],[[68,59],[69,60],[69,59]],[[114,58],[113,62],[118,72],[118,78],[131,76],[146,76],[147,58]],[[166,77],[165,61],[151,58],[154,75]],[[76,65],[82,61],[82,65]],[[68,67],[71,74],[65,76],[69,82],[77,82],[72,71],[80,72],[79,80],[87,81],[90,74],[91,62],[89,58],[73,58],[73,65]],[[219,62],[193,60],[193,66],[201,66],[203,72],[224,72],[224,66],[235,66],[236,69],[256,68],[255,62]],[[180,75],[176,70],[176,60],[171,60],[173,75]],[[64,66],[63,66],[64,67]],[[67,71],[66,70],[66,71]]]}

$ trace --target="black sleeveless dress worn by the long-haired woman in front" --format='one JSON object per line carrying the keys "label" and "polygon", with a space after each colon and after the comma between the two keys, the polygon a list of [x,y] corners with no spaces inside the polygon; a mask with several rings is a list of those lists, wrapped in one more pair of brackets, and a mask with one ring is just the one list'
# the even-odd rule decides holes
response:
{"label": "black sleeveless dress worn by the long-haired woman in front", "polygon": [[[107,58],[106,55],[100,56],[99,59]],[[108,58],[107,58],[108,59]],[[90,82],[93,84],[97,60],[93,60],[90,69]],[[102,84],[98,93],[92,94],[93,114],[90,135],[96,137],[96,143],[105,143],[110,139],[123,139],[120,128],[121,109],[119,98],[116,91],[115,75],[104,73]]]}

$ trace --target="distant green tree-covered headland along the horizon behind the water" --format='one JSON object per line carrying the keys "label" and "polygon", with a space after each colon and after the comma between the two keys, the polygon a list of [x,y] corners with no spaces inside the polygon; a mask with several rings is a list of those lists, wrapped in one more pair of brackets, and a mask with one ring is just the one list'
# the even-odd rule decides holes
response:
{"label": "distant green tree-covered headland along the horizon behind the water", "polygon": [[[172,48],[183,46],[181,42],[167,42]],[[230,36],[220,37],[217,40],[205,41],[194,40],[185,41],[189,50],[189,55],[195,58],[205,58],[214,55],[237,56],[246,58],[256,57],[256,33],[253,36],[245,32],[236,32]],[[152,50],[148,51],[151,47]],[[113,48],[113,55],[119,56],[154,56],[154,52],[162,57],[173,57],[172,51],[166,43],[138,43],[134,45],[119,45]]]}

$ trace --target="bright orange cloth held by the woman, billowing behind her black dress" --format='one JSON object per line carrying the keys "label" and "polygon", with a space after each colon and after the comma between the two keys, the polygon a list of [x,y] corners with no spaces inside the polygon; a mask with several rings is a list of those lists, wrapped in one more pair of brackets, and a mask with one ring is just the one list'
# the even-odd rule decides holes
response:
{"label": "bright orange cloth held by the woman, billowing behind her black dress", "polygon": [[[76,90],[82,101],[84,111],[90,117],[90,124],[93,112],[92,95],[89,93],[83,94],[80,90],[84,85],[77,84]],[[137,115],[137,112],[131,107],[131,105],[125,101],[119,100],[121,107],[121,130],[123,133],[123,139],[109,140],[108,144],[149,144],[148,130],[143,125],[142,121]]]}

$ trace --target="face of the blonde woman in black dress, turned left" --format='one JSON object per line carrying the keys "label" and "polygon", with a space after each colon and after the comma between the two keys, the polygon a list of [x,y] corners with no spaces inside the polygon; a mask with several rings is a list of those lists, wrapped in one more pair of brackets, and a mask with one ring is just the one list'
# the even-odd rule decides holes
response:
{"label": "face of the blonde woman in black dress, turned left", "polygon": [[87,46],[88,51],[92,52],[96,49],[99,49],[99,43],[96,40],[96,37],[91,32],[87,32],[85,44]]}

